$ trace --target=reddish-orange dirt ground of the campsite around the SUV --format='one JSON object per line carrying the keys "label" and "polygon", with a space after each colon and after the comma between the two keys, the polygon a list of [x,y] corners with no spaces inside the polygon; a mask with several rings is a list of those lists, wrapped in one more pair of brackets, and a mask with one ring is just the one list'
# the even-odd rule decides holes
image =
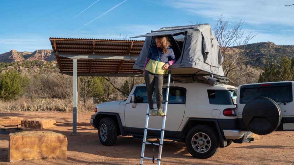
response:
{"label": "reddish-orange dirt ground of the campsite around the SUV", "polygon": [[[0,134],[0,164],[139,164],[142,141],[131,136],[117,138],[114,146],[106,147],[99,142],[97,129],[89,124],[92,112],[78,113],[77,131],[72,136],[72,113],[64,112],[9,112],[0,113],[0,117],[18,116],[24,119],[49,118],[55,119],[58,127],[51,131],[66,135],[68,139],[67,159],[38,159],[9,163],[9,135]],[[28,129],[26,129],[28,130]],[[196,159],[189,154],[185,144],[174,142],[163,147],[163,165],[169,164],[293,164],[294,138],[293,132],[273,132],[259,136],[252,143],[234,144],[220,148],[209,159]],[[145,156],[152,157],[152,147],[147,147]],[[157,153],[156,153],[157,155]],[[152,164],[144,160],[144,164]]]}

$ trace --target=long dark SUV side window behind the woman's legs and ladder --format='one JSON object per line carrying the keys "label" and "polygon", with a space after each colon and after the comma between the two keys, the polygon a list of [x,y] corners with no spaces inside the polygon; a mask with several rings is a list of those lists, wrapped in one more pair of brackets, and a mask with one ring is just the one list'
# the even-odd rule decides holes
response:
{"label": "long dark SUV side window behind the woman's legs and ladder", "polygon": [[[137,103],[148,103],[146,87],[136,87],[133,94],[136,95],[135,99]],[[166,88],[163,88],[162,97],[162,102],[164,103],[166,98]],[[155,88],[153,90],[153,102],[156,103]],[[169,90],[168,104],[185,104],[185,102],[186,89],[181,87],[171,87]]]}

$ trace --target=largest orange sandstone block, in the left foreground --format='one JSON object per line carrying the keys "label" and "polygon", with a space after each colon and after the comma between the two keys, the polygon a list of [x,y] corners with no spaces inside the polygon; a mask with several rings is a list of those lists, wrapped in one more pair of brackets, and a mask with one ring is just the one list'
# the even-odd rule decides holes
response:
{"label": "largest orange sandstone block, in the left foreground", "polygon": [[66,159],[67,139],[52,131],[26,131],[9,134],[8,160],[42,158]]}

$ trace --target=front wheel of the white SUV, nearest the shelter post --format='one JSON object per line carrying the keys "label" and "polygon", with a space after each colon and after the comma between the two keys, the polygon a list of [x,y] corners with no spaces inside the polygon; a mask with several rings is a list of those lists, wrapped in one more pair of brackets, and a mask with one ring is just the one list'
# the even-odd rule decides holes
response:
{"label": "front wheel of the white SUV, nearest the shelter post", "polygon": [[111,118],[102,118],[98,124],[98,136],[101,144],[104,146],[112,146],[117,138],[115,121]]}

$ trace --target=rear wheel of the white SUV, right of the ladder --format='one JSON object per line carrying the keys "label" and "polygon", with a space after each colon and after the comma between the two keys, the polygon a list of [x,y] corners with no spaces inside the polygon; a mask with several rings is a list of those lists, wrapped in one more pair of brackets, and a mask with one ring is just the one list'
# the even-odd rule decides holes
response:
{"label": "rear wheel of the white SUV, right of the ladder", "polygon": [[[196,143],[196,140],[198,143]],[[186,136],[187,150],[193,157],[198,159],[210,158],[216,153],[219,146],[220,143],[217,132],[207,125],[193,127]]]}

